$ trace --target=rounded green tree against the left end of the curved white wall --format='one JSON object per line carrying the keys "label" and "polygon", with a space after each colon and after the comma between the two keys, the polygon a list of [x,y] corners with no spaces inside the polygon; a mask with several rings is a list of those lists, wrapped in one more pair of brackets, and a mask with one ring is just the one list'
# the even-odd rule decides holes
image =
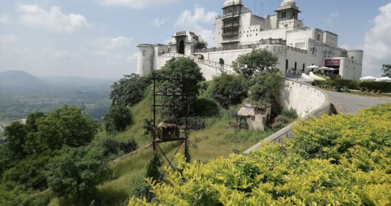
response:
{"label": "rounded green tree against the left end of the curved white wall", "polygon": [[262,71],[250,80],[250,100],[271,104],[279,99],[283,73],[278,70]]}

